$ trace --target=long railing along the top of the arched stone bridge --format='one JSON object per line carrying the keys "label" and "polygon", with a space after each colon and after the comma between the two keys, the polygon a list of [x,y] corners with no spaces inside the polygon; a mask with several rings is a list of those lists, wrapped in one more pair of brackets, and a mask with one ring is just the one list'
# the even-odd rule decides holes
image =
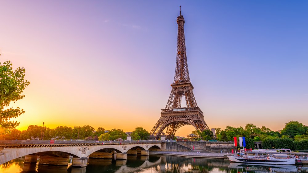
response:
{"label": "long railing along the top of the arched stone bridge", "polygon": [[[149,140],[139,140],[139,141],[95,141],[95,140],[55,140],[53,144],[119,144],[119,143],[160,143],[161,141],[149,141]],[[50,144],[50,140],[0,140],[0,144]]]}

